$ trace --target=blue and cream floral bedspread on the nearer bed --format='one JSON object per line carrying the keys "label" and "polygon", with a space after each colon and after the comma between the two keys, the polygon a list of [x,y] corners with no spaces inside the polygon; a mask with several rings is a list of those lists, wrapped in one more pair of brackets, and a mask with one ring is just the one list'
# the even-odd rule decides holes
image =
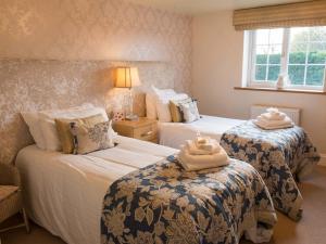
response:
{"label": "blue and cream floral bedspread on the nearer bed", "polygon": [[163,160],[115,181],[104,197],[102,244],[238,243],[268,241],[276,214],[256,170],[226,167],[185,171]]}

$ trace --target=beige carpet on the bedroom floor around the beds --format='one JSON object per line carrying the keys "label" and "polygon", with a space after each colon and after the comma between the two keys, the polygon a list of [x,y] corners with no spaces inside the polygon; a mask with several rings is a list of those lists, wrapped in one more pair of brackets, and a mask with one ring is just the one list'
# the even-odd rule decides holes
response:
{"label": "beige carpet on the bedroom floor around the beds", "polygon": [[[278,214],[278,223],[271,244],[326,244],[326,167],[318,166],[313,176],[300,183],[299,188],[304,198],[303,218],[296,223]],[[9,222],[13,221],[16,218]],[[33,224],[30,234],[18,229],[2,233],[0,237],[1,244],[64,244],[36,224]],[[248,243],[250,242],[241,242]]]}

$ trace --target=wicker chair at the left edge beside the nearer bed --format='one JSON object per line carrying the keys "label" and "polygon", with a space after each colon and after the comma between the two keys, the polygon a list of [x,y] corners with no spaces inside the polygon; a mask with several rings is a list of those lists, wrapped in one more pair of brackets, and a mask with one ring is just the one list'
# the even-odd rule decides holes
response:
{"label": "wicker chair at the left edge beside the nearer bed", "polygon": [[29,232],[28,218],[23,206],[20,174],[16,167],[0,164],[0,223],[18,211],[23,214],[24,223],[2,229],[0,232],[18,227],[25,227],[27,233]]}

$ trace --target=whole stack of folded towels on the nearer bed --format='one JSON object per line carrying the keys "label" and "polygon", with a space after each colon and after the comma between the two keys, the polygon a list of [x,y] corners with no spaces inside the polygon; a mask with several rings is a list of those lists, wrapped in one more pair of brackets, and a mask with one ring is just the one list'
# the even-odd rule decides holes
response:
{"label": "whole stack of folded towels on the nearer bed", "polygon": [[216,140],[202,137],[195,141],[187,140],[178,158],[187,171],[216,168],[229,163],[226,152]]}

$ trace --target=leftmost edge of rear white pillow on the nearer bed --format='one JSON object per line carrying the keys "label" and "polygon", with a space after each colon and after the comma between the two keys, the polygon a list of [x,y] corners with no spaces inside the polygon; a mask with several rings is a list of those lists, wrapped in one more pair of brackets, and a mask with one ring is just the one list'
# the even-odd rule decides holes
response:
{"label": "leftmost edge of rear white pillow on the nearer bed", "polygon": [[26,125],[28,126],[29,132],[39,149],[47,149],[46,141],[42,131],[39,126],[39,114],[38,112],[22,112],[21,113]]}

